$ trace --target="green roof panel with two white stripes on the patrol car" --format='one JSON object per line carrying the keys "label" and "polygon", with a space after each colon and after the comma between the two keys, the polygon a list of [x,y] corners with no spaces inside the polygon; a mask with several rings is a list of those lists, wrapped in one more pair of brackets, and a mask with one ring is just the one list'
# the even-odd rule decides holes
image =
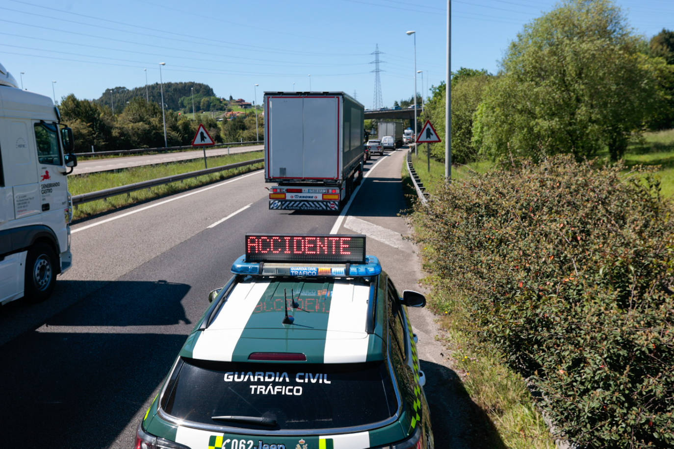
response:
{"label": "green roof panel with two white stripes on the patrol car", "polygon": [[303,354],[319,364],[383,359],[381,326],[369,323],[376,315],[376,288],[365,277],[239,277],[181,355],[250,361],[255,353]]}

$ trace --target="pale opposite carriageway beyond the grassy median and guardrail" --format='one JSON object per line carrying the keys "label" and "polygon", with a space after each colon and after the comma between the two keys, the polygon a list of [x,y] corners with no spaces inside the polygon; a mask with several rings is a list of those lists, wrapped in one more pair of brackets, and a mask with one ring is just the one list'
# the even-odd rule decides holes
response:
{"label": "pale opposite carriageway beyond the grassy median and guardrail", "polygon": [[[211,148],[206,150],[206,156],[224,156],[231,153],[246,153],[248,151],[262,151],[264,145],[247,145],[245,147]],[[203,149],[191,149],[189,151],[176,151],[175,153],[148,154],[142,156],[123,156],[120,158],[101,158],[78,161],[78,166],[72,174],[84,174],[92,172],[105,172],[152,164],[165,164],[166,162],[178,162],[191,159],[204,158]]]}

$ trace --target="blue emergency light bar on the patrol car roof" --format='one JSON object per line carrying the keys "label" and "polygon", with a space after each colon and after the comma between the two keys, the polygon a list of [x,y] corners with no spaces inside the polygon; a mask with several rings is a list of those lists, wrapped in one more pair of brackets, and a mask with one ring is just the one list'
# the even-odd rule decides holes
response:
{"label": "blue emergency light bar on the patrol car roof", "polygon": [[[287,263],[259,263],[246,262],[245,254],[232,264],[232,273],[235,275],[268,275],[268,276],[301,276],[301,277],[344,277],[346,265],[327,264],[323,267],[311,265],[295,266]],[[381,273],[379,259],[375,256],[365,256],[364,264],[348,265],[348,276],[367,277]]]}

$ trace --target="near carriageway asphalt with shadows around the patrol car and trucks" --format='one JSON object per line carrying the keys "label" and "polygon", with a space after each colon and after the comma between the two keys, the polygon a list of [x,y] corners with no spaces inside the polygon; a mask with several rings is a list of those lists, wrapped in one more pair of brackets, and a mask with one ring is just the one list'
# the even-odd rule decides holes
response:
{"label": "near carriageway asphalt with shadows around the patrol car and trucks", "polygon": [[[398,290],[419,290],[423,273],[398,216],[405,153],[367,164],[344,216],[268,210],[258,171],[73,225],[73,268],[53,297],[0,308],[0,446],[132,447],[208,293],[243,254],[246,232],[367,234],[367,252]],[[435,447],[482,447],[469,442],[491,423],[450,368],[433,314],[410,312]]]}

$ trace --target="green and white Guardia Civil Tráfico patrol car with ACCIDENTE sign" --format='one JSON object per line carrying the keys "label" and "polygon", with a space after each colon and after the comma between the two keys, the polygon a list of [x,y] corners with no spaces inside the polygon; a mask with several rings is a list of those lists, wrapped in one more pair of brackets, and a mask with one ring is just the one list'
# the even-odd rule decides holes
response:
{"label": "green and white Guardia Civil Tr\u00e1fico patrol car with ACCIDENTE sign", "polygon": [[136,449],[433,448],[407,306],[365,236],[245,236]]}

